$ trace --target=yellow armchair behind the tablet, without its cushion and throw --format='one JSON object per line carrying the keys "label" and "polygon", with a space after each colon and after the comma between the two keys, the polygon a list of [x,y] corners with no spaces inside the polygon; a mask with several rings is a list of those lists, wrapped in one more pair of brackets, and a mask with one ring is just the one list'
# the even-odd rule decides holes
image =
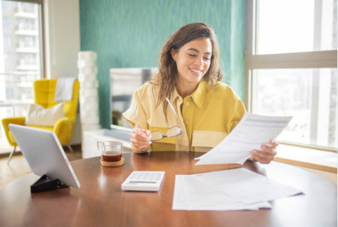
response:
{"label": "yellow armchair behind the tablet, without its cushion and throw", "polygon": [[[55,99],[56,92],[56,83],[57,79],[40,79],[34,82],[34,103],[37,103],[44,108],[52,108],[57,104]],[[53,127],[39,127],[39,126],[30,126],[39,129],[47,129],[53,131],[61,143],[61,145],[67,145],[70,151],[73,150],[69,145],[69,142],[72,140],[72,135],[74,131],[75,119],[77,117],[77,103],[79,100],[79,81],[75,80],[73,87],[73,96],[72,100],[65,102],[63,105],[63,112],[65,117],[58,119],[56,124]],[[11,131],[8,128],[8,124],[21,124],[25,125],[25,117],[8,117],[1,120],[1,123],[4,127],[7,141],[10,145],[14,147],[11,155],[8,158],[8,164],[11,161],[13,153],[18,146],[16,143]]]}

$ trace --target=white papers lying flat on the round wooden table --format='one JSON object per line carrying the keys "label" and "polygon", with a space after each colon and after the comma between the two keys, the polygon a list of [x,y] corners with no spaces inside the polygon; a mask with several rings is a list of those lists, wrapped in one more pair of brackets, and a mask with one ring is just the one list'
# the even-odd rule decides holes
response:
{"label": "white papers lying flat on the round wooden table", "polygon": [[299,193],[244,168],[176,175],[172,209],[257,210],[271,208],[268,201]]}

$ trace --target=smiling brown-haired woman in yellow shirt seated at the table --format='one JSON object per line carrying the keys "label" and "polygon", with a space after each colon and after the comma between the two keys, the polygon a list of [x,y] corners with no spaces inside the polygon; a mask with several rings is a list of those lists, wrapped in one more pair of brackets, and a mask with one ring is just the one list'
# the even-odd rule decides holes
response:
{"label": "smiling brown-haired woman in yellow shirt seated at the table", "polygon": [[[242,101],[221,83],[222,78],[219,44],[211,26],[190,23],[172,34],[160,52],[154,81],[136,91],[131,107],[123,114],[134,127],[130,134],[134,153],[208,151],[221,142],[245,114]],[[171,127],[182,131],[173,133]],[[170,137],[154,141],[158,133],[150,134],[153,131]],[[278,143],[270,143],[252,150],[254,160],[273,160]]]}

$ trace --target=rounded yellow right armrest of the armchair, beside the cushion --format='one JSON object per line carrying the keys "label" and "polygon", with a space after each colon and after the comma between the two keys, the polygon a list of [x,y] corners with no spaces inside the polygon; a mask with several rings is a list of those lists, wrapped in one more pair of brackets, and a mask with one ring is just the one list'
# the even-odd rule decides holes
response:
{"label": "rounded yellow right armrest of the armchair, beside the cushion", "polygon": [[65,145],[72,140],[74,131],[75,119],[70,117],[63,117],[58,119],[53,131],[58,136],[61,145]]}

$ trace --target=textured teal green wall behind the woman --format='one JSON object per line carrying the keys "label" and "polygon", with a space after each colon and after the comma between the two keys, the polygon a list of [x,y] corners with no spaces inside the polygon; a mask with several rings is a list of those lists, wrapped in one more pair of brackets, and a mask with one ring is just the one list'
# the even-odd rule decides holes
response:
{"label": "textured teal green wall behind the woman", "polygon": [[81,51],[98,53],[100,124],[110,127],[112,67],[154,67],[166,37],[189,22],[214,27],[224,82],[244,100],[245,0],[79,0]]}

